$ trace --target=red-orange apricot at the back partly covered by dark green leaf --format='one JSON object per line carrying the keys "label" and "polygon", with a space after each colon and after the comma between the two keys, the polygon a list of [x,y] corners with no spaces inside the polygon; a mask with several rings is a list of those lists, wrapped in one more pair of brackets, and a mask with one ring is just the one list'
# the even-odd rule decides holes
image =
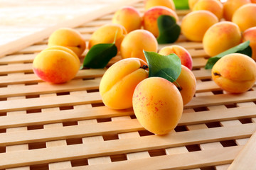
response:
{"label": "red-orange apricot at the back partly covered by dark green leaf", "polygon": [[159,36],[159,28],[157,26],[157,18],[161,15],[173,16],[178,22],[178,16],[175,11],[167,8],[165,6],[154,6],[149,8],[148,11],[144,13],[142,18],[142,26],[145,30],[149,30],[157,38]]}

